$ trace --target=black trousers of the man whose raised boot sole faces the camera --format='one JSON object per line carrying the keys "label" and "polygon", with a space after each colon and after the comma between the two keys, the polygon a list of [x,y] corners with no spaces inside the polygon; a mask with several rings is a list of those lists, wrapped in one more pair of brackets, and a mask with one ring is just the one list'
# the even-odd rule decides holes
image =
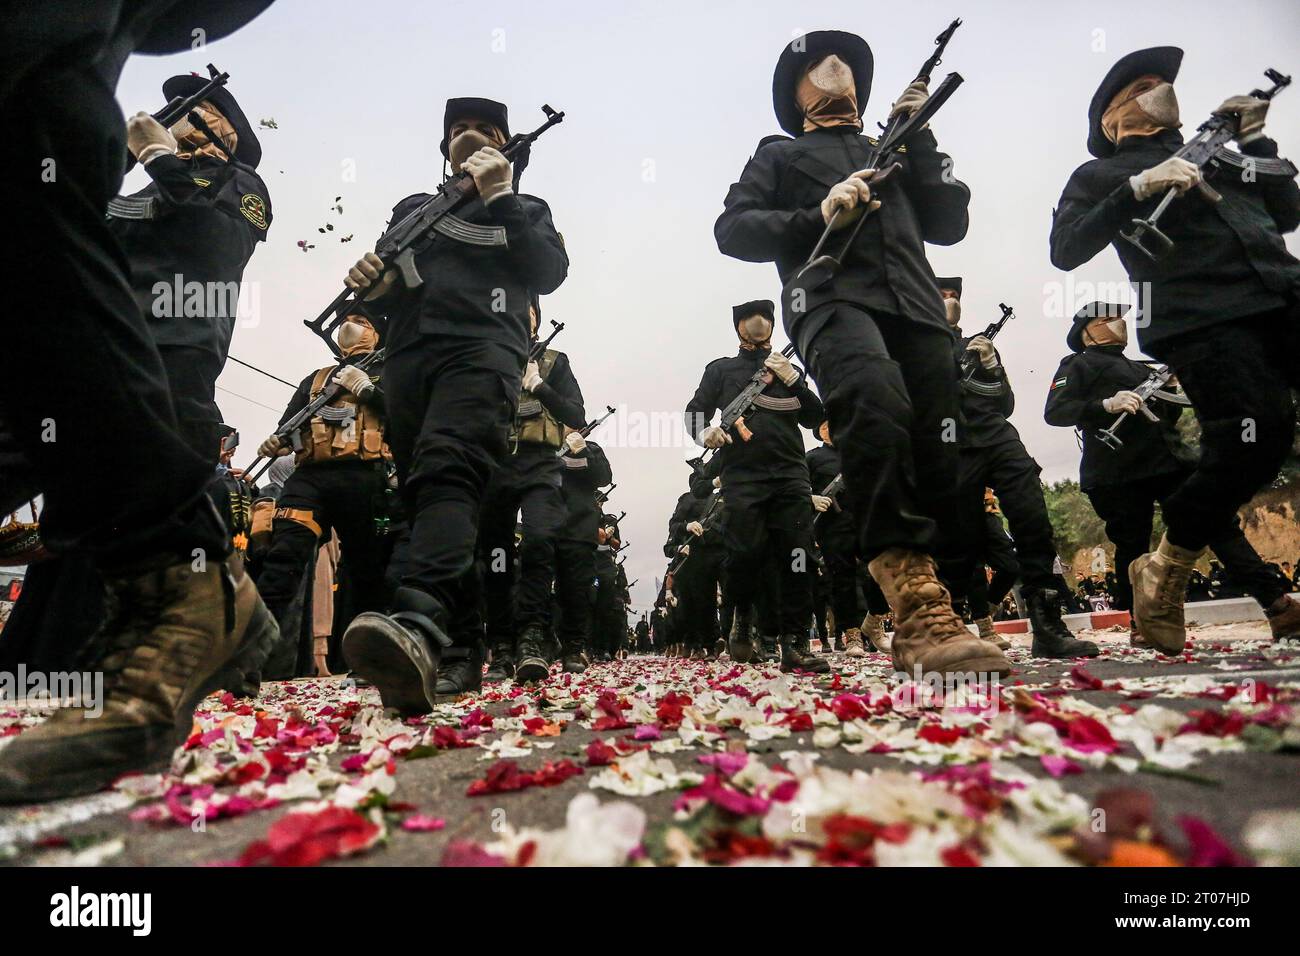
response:
{"label": "black trousers of the man whose raised boot sole faces the camera", "polygon": [[421,336],[384,367],[386,438],[411,527],[400,584],[452,618],[474,594],[478,512],[519,401],[521,363],[497,342]]}

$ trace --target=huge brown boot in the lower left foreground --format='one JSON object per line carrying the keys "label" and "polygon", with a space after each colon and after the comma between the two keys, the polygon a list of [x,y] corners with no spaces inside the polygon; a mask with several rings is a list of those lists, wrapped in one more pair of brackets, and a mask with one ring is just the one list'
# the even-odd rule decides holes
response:
{"label": "huge brown boot in the lower left foreground", "polygon": [[0,804],[90,793],[166,766],[209,693],[260,671],[280,636],[238,558],[105,578],[108,613],[87,648],[103,689],[0,749]]}

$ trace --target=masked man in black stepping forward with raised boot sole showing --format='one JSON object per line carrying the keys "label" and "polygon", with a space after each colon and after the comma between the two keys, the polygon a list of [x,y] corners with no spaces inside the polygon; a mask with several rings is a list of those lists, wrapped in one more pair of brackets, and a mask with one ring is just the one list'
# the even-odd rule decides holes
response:
{"label": "masked man in black stepping forward with raised boot sole showing", "polygon": [[[369,303],[389,320],[387,440],[411,537],[394,613],[359,615],[343,636],[343,653],[386,705],[408,714],[426,711],[439,692],[480,680],[480,505],[493,468],[508,454],[528,360],[529,304],[568,273],[546,203],[515,191],[498,151],[508,138],[503,104],[447,100],[442,155],[454,172],[469,170],[478,198],[416,254],[419,287],[396,281],[396,269],[381,276],[373,254],[347,280],[354,287],[378,282]],[[403,199],[391,221],[425,199]],[[447,671],[441,684],[439,661]]]}

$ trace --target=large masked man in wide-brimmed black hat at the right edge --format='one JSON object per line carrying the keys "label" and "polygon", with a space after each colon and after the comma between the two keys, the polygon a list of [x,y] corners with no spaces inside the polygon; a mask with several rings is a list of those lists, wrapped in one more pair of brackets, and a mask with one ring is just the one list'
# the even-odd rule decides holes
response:
{"label": "large masked man in wide-brimmed black hat at the right edge", "polygon": [[[1282,239],[1300,225],[1296,168],[1264,134],[1265,100],[1232,96],[1240,152],[1208,164],[1221,196],[1190,193],[1202,176],[1174,156],[1183,138],[1174,95],[1178,47],[1122,57],[1088,105],[1088,152],[1057,206],[1052,263],[1072,269],[1113,245],[1140,293],[1139,343],[1174,369],[1201,423],[1201,458],[1162,507],[1165,537],[1127,568],[1134,619],[1145,640],[1178,653],[1187,639],[1188,576],[1236,510],[1277,477],[1295,436],[1300,388],[1300,260]],[[1121,238],[1170,190],[1184,191],[1160,220],[1174,251],[1152,261]],[[1300,635],[1300,604],[1280,583],[1258,588],[1275,637]]]}

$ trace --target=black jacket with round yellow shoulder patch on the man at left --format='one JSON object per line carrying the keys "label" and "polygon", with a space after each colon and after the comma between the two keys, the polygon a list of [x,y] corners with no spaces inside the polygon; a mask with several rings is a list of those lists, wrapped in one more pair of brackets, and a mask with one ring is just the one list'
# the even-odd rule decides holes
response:
{"label": "black jacket with round yellow shoulder patch on the man at left", "polygon": [[250,166],[209,156],[159,156],[144,172],[153,182],[114,200],[108,217],[135,300],[155,342],[225,363],[244,267],[270,228],[266,183]]}

